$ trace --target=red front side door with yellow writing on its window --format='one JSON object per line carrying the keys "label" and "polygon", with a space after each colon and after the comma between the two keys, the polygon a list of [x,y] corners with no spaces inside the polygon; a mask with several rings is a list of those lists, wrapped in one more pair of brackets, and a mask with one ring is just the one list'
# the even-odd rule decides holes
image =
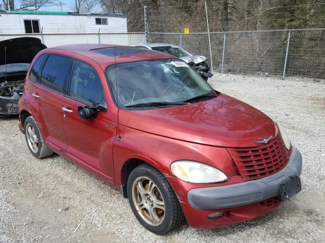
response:
{"label": "red front side door with yellow writing on its window", "polygon": [[98,72],[89,64],[75,60],[67,89],[62,107],[67,155],[92,174],[114,184],[113,143],[117,126],[107,115],[109,109],[88,119],[81,119],[78,113],[79,106],[106,102]]}

